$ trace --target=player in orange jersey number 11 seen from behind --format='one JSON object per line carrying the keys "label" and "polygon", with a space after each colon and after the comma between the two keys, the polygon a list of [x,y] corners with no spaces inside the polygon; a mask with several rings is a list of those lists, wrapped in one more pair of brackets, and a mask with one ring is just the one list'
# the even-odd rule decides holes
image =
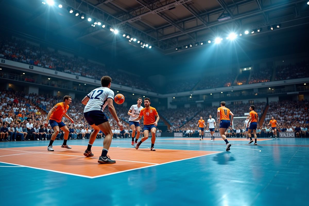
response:
{"label": "player in orange jersey number 11 seen from behind", "polygon": [[[231,115],[231,120],[230,120],[230,115]],[[229,128],[230,125],[232,125],[234,118],[234,114],[225,107],[225,102],[221,102],[221,107],[217,109],[217,119],[220,121],[220,135],[222,139],[226,142],[226,151],[230,150],[231,144],[227,141],[226,136],[225,136],[225,131]]]}

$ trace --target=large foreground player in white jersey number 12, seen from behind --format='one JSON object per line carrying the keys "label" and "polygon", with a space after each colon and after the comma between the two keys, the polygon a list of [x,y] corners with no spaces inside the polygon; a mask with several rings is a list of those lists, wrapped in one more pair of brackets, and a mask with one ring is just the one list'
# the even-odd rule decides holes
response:
{"label": "large foreground player in white jersey number 12, seen from behind", "polygon": [[84,153],[86,157],[92,157],[91,146],[95,141],[95,138],[98,132],[101,130],[105,134],[105,139],[103,142],[102,154],[99,157],[98,162],[101,164],[106,163],[116,163],[115,160],[111,160],[107,155],[109,146],[112,142],[113,132],[111,125],[108,122],[107,117],[105,116],[103,110],[108,105],[108,109],[111,112],[113,118],[116,120],[120,130],[122,131],[123,125],[121,124],[115,107],[113,106],[114,92],[111,88],[112,78],[109,76],[104,76],[101,78],[102,87],[92,90],[85,98],[82,100],[82,103],[85,106],[84,117],[87,120],[88,124],[94,129],[91,132],[88,147]]}

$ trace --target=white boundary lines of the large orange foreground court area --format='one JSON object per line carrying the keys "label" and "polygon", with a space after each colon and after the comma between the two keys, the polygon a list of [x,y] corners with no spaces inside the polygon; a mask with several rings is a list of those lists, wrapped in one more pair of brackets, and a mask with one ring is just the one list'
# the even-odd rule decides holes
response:
{"label": "white boundary lines of the large orange foreground court area", "polygon": [[[80,146],[80,145],[77,145],[77,146]],[[3,148],[0,148],[0,149],[3,149]],[[4,150],[12,150],[12,151],[19,151],[19,152],[29,152],[29,151],[20,151],[20,150],[13,150],[13,149],[4,149]],[[169,150],[176,150],[176,149],[169,149]],[[181,149],[177,149],[177,150],[181,150]],[[189,150],[189,151],[203,151],[203,150]],[[223,151],[209,151],[209,152],[214,152],[214,153],[211,153],[211,154],[217,154],[217,153],[222,153]],[[42,153],[42,152],[30,152],[30,153]],[[53,154],[53,153],[46,153],[46,154]],[[183,161],[183,160],[203,157],[203,156],[207,156],[207,155],[211,155],[211,154],[205,154],[205,155],[201,155],[201,156],[197,156],[197,157],[180,159],[180,160],[174,160],[174,161],[171,161],[171,162],[164,162],[164,163],[159,163],[159,164],[148,163],[148,164],[153,164],[153,165],[133,168],[133,169],[129,169],[129,170],[123,170],[123,171],[118,171],[118,172],[112,172],[112,173],[108,173],[108,174],[101,174],[101,175],[97,175],[97,176],[87,176],[87,175],[82,175],[82,174],[74,174],[74,173],[69,173],[69,172],[61,172],[61,171],[57,171],[57,170],[49,170],[49,169],[44,169],[44,168],[25,166],[25,165],[19,165],[19,164],[8,163],[8,162],[0,162],[0,163],[16,165],[16,166],[20,166],[20,167],[28,167],[28,168],[37,169],[37,170],[45,170],[45,171],[56,172],[56,173],[61,173],[61,174],[68,174],[68,175],[73,175],[73,176],[78,176],[78,177],[85,177],[85,178],[89,178],[89,179],[94,179],[94,178],[104,177],[104,176],[108,176],[108,175],[112,175],[112,174],[119,174],[119,173],[123,173],[123,172],[139,170],[139,169],[144,169],[144,168],[153,167],[153,166],[164,165],[164,164],[167,164],[167,163],[179,162],[179,161]],[[56,155],[66,155],[66,154],[56,154]],[[75,156],[75,155],[66,155],[66,156]],[[76,157],[83,157],[83,156],[76,156]],[[127,161],[127,160],[118,160],[118,161],[132,162],[132,161]]]}

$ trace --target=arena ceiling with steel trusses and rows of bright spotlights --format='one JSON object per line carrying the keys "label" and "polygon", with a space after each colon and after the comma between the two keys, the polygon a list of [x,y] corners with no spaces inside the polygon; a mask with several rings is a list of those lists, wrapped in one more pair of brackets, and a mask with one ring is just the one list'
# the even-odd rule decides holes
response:
{"label": "arena ceiling with steel trusses and rows of bright spotlights", "polygon": [[[216,37],[225,38],[231,32],[244,35],[248,30],[248,35],[262,36],[272,31],[268,26],[284,30],[308,27],[309,23],[307,0],[55,0],[53,8],[42,1],[48,0],[0,1],[1,12],[20,16],[27,24],[44,29],[49,21],[48,29],[54,34],[104,50],[120,42],[133,47],[140,47],[142,42],[168,54],[176,48],[184,50],[186,45],[194,47],[213,42]],[[92,27],[95,21],[106,27]],[[119,33],[115,35],[110,28]],[[257,32],[258,28],[262,30]],[[137,40],[129,42],[131,38]]]}

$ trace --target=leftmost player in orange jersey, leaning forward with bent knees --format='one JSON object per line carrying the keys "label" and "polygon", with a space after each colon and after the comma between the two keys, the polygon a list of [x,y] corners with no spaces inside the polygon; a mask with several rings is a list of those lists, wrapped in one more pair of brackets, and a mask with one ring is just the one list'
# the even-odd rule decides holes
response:
{"label": "leftmost player in orange jersey, leaning forward with bent knees", "polygon": [[68,118],[72,124],[74,124],[74,121],[72,120],[71,117],[69,117],[66,112],[69,109],[69,104],[72,102],[72,97],[66,95],[63,97],[63,102],[57,103],[47,114],[47,118],[45,121],[45,127],[48,126],[48,123],[50,124],[50,126],[53,128],[53,130],[55,130],[55,132],[53,133],[52,137],[50,138],[50,142],[49,145],[47,147],[48,151],[54,151],[53,149],[53,142],[57,137],[57,134],[59,133],[59,128],[64,131],[64,136],[63,136],[63,144],[61,145],[61,147],[63,148],[67,148],[67,149],[71,149],[72,147],[70,147],[69,145],[66,144],[66,141],[68,140],[69,137],[69,129],[66,126],[66,124],[64,124],[62,122],[62,117],[65,116],[66,118]]}

